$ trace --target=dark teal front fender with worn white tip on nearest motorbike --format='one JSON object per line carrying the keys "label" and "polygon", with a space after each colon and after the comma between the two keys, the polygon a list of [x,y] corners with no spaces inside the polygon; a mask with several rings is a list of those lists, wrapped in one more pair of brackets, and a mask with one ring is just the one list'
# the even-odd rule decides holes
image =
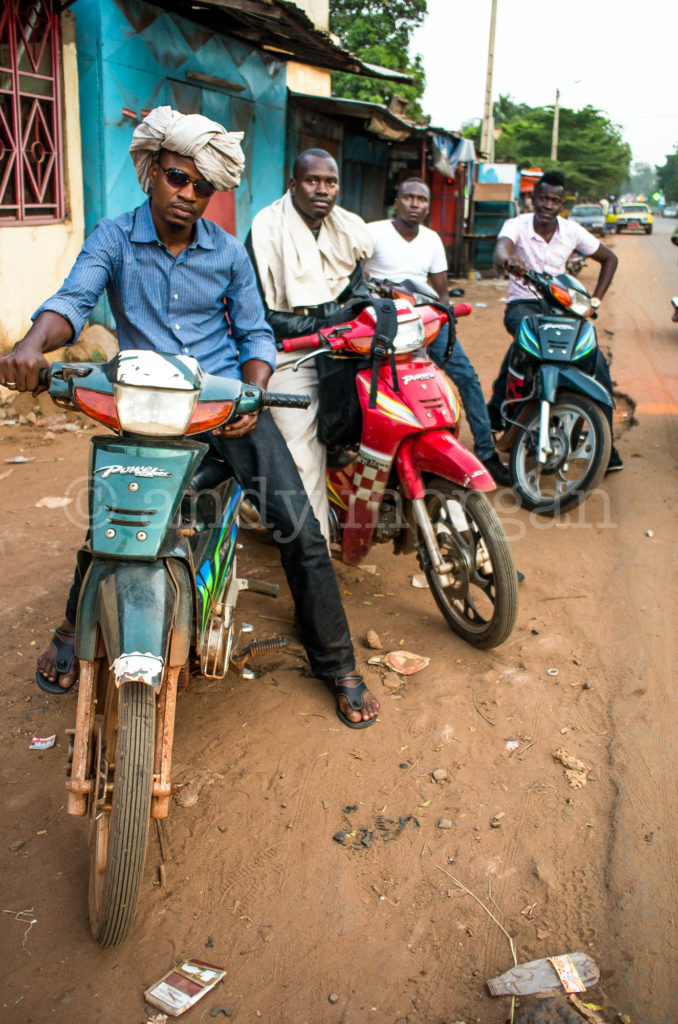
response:
{"label": "dark teal front fender with worn white tip on nearest motorbike", "polygon": [[134,677],[159,689],[165,665],[182,666],[188,657],[192,591],[178,559],[92,559],[78,604],[78,657],[94,659],[100,633],[117,683]]}

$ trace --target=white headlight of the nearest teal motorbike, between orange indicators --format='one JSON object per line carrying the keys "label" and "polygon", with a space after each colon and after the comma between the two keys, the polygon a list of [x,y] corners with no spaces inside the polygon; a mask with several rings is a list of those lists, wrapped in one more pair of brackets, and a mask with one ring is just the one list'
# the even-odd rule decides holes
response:
{"label": "white headlight of the nearest teal motorbike, between orange indicators", "polygon": [[114,384],[120,429],[149,437],[182,436],[200,391],[168,391]]}

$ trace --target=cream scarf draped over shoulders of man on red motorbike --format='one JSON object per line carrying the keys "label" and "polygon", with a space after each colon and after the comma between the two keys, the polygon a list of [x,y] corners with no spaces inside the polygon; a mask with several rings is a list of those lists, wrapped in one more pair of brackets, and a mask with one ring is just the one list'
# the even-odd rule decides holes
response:
{"label": "cream scarf draped over shoulders of man on red motorbike", "polygon": [[336,299],[373,243],[363,218],[337,206],[316,240],[287,191],[254,218],[252,247],[267,307],[292,312]]}

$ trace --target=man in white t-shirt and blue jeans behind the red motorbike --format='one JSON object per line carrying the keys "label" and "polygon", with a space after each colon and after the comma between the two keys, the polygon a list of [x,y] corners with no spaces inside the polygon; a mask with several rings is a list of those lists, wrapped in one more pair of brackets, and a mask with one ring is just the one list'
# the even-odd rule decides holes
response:
{"label": "man in white t-shirt and blue jeans behind the red motorbike", "polygon": [[[378,281],[399,284],[410,280],[432,288],[440,302],[448,305],[448,260],[442,242],[435,231],[423,224],[431,203],[428,185],[421,178],[401,181],[395,197],[392,220],[368,224],[374,252],[365,261],[366,273]],[[455,382],[473,434],[476,456],[497,483],[507,485],[509,474],[495,452],[490,418],[477,374],[459,339],[448,353],[449,327],[442,328],[428,352]]]}

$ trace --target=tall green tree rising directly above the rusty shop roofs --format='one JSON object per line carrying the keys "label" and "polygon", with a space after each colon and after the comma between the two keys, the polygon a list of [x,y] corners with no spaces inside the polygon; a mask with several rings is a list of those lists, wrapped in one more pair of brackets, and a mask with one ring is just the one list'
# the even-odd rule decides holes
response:
{"label": "tall green tree rising directly above the rusty shop roofs", "polygon": [[330,31],[341,45],[368,63],[406,72],[413,85],[362,75],[333,73],[335,96],[387,104],[393,94],[409,101],[408,117],[422,117],[426,76],[421,57],[409,56],[410,37],[426,16],[426,0],[330,0]]}

